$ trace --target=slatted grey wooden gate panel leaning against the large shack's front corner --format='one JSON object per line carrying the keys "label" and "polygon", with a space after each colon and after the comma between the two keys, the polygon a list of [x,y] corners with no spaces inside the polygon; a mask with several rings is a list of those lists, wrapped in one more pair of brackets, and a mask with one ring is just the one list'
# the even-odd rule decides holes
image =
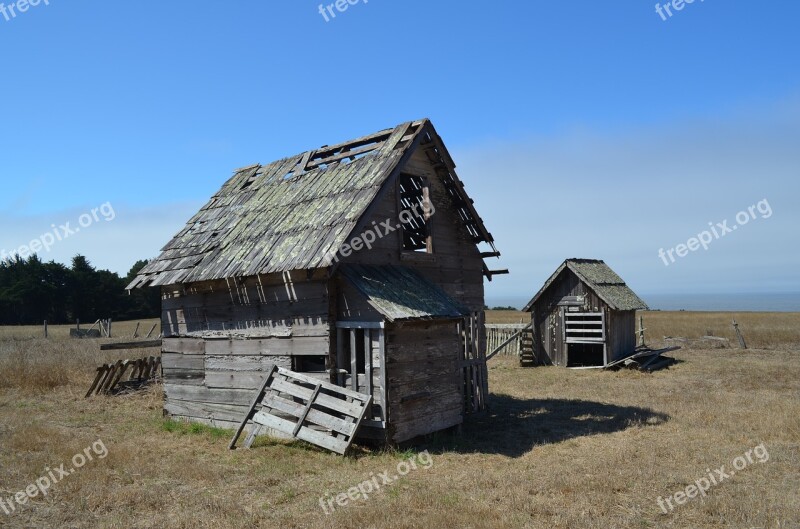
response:
{"label": "slatted grey wooden gate panel leaning against the large shack's front corner", "polygon": [[252,422],[245,448],[252,446],[263,427],[343,455],[371,403],[370,395],[273,366],[228,448],[236,446]]}

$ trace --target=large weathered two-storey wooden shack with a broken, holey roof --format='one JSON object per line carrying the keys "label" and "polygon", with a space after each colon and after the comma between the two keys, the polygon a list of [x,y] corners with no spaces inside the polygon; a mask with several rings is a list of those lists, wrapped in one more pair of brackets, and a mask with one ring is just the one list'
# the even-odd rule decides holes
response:
{"label": "large weathered two-storey wooden shack with a broken, holey roof", "polygon": [[493,256],[421,120],[237,170],[128,288],[162,291],[166,413],[237,425],[277,365],[372,395],[358,435],[397,443],[483,407]]}

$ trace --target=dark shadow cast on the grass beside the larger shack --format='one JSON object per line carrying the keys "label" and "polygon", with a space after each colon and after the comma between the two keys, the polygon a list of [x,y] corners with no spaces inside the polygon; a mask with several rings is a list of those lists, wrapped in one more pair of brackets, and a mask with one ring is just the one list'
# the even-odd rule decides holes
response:
{"label": "dark shadow cast on the grass beside the larger shack", "polygon": [[488,404],[489,411],[467,416],[460,435],[434,435],[430,448],[519,457],[538,445],[659,425],[669,420],[668,415],[647,408],[586,400],[490,395]]}

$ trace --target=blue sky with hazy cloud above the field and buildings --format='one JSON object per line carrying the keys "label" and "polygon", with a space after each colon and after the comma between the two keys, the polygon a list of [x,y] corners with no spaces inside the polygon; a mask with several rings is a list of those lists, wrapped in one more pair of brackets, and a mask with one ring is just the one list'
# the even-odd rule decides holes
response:
{"label": "blue sky with hazy cloud above the field and buildings", "polygon": [[[800,291],[800,3],[696,0],[666,21],[654,6],[0,14],[0,249],[110,203],[113,220],[40,255],[125,273],[234,168],[430,117],[503,253],[492,266],[512,271],[490,299],[529,297],[567,257],[605,259],[645,294]],[[764,200],[767,218],[659,258]]]}

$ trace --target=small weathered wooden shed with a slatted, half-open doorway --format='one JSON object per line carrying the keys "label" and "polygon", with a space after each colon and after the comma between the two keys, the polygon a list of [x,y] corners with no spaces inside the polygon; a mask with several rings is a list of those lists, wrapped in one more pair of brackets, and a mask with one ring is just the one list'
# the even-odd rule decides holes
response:
{"label": "small weathered wooden shed with a slatted, half-open doorway", "polygon": [[523,310],[536,362],[602,367],[636,349],[636,311],[647,305],[606,263],[567,259]]}

